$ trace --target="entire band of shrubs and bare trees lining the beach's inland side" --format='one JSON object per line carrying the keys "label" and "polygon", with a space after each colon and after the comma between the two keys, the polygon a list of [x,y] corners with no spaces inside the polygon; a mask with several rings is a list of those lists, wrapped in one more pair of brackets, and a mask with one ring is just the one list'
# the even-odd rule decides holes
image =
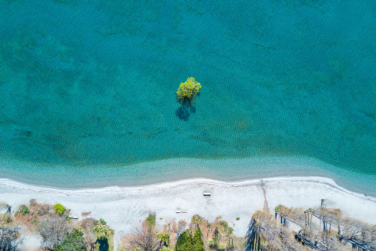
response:
{"label": "entire band of shrubs and bare trees lining the beach's inland side", "polygon": [[[376,225],[352,219],[338,208],[307,210],[279,205],[275,213],[256,211],[246,238],[237,237],[221,217],[209,222],[195,214],[190,222],[166,221],[156,224],[149,215],[131,233],[121,239],[119,251],[346,251],[376,250]],[[19,225],[36,231],[42,238],[41,250],[105,251],[113,250],[114,231],[102,219],[87,216],[77,222],[68,217],[61,204],[39,204],[30,200],[20,205],[14,216],[10,207],[0,202],[0,251],[16,251],[23,242]]]}

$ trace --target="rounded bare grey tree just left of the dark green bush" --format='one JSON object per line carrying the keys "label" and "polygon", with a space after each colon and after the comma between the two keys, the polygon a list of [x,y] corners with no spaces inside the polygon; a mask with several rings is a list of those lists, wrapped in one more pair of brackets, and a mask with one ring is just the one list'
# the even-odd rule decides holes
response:
{"label": "rounded bare grey tree just left of the dark green bush", "polygon": [[58,245],[61,242],[69,229],[70,226],[67,221],[61,216],[42,218],[36,226],[36,230],[43,239],[41,246],[49,250],[53,250],[54,245]]}

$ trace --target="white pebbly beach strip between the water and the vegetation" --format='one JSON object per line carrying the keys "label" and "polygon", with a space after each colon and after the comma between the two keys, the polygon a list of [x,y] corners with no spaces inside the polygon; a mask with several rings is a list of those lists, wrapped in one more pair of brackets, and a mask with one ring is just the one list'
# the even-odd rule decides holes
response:
{"label": "white pebbly beach strip between the water and the vegetation", "polygon": [[[203,196],[203,192],[211,196]],[[41,203],[57,202],[71,209],[82,219],[103,218],[115,230],[115,248],[132,225],[143,221],[150,213],[161,224],[168,219],[186,219],[200,214],[209,221],[217,216],[229,222],[237,236],[244,236],[256,210],[267,206],[273,212],[276,205],[287,207],[317,207],[324,198],[327,207],[340,208],[347,215],[376,224],[376,198],[350,192],[329,178],[281,177],[263,180],[221,182],[207,179],[182,180],[143,187],[106,187],[100,189],[59,190],[36,187],[14,181],[0,180],[0,201],[12,206],[27,204],[30,199]],[[176,213],[176,211],[187,213]],[[240,220],[236,220],[240,217]],[[162,220],[160,220],[162,218]],[[27,241],[25,245],[27,245]],[[35,242],[35,238],[30,238]],[[30,246],[29,246],[30,247]]]}

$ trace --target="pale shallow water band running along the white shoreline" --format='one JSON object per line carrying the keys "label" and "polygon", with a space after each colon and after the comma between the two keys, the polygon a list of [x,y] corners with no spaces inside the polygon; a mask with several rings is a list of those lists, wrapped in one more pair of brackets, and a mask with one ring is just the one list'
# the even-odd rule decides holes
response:
{"label": "pale shallow water band running along the white shoreline", "polygon": [[[321,176],[339,186],[376,197],[376,175],[349,172],[312,158],[262,157],[248,159],[202,160],[177,158],[145,161],[128,166],[20,166],[0,163],[6,178],[37,186],[81,189],[109,186],[143,186],[189,178],[244,181],[275,176]],[[21,167],[21,168],[20,168]],[[130,178],[132,177],[132,178]],[[323,194],[323,197],[325,195]]]}

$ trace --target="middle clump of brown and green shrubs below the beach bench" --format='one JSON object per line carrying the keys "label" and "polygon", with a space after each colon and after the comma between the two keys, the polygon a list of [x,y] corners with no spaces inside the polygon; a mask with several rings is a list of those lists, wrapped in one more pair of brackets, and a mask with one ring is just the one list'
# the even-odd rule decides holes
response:
{"label": "middle clump of brown and green shrubs below the beach bench", "polygon": [[162,226],[155,224],[150,215],[132,233],[125,235],[118,248],[120,251],[236,251],[244,249],[244,238],[236,237],[226,221],[217,217],[208,222],[195,214],[191,222],[167,221]]}

